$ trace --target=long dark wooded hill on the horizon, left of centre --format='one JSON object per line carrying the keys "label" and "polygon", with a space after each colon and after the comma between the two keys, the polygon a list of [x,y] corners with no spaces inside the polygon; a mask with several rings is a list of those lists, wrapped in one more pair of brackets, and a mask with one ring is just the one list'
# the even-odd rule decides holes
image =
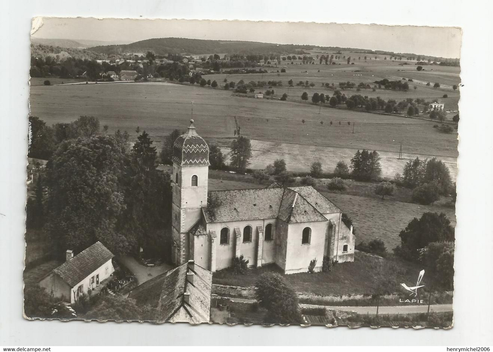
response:
{"label": "long dark wooded hill on the horizon, left of centre", "polygon": [[205,40],[188,38],[153,38],[125,45],[100,45],[90,50],[104,54],[145,53],[156,55],[186,54],[293,54],[301,49],[313,49],[313,45],[274,44],[256,41]]}

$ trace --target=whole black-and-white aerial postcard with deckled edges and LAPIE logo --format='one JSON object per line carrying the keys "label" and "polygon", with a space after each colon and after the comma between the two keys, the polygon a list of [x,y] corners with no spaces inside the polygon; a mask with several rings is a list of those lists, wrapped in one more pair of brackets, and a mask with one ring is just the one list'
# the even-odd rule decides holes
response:
{"label": "whole black-and-white aerial postcard with deckled edges and LAPIE logo", "polygon": [[460,45],[33,19],[24,316],[452,327]]}

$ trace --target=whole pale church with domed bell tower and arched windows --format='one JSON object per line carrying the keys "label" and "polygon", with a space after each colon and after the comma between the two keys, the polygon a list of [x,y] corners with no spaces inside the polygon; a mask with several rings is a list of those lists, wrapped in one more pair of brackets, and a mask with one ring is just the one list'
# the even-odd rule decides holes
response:
{"label": "whole pale church with domed bell tower and arched windows", "polygon": [[215,272],[243,255],[250,266],[307,272],[316,259],[354,260],[342,211],[312,186],[208,191],[209,146],[188,131],[173,145],[172,260]]}

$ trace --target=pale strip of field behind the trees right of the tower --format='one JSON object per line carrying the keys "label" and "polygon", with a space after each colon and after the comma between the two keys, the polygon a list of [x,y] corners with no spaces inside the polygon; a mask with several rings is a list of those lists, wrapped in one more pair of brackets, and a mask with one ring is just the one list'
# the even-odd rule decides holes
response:
{"label": "pale strip of field behind the trees right of the tower", "polygon": [[[287,170],[294,172],[310,171],[314,161],[322,163],[322,168],[326,171],[333,171],[337,162],[343,160],[346,164],[351,164],[351,158],[354,156],[356,149],[325,147],[315,145],[289,144],[279,142],[268,142],[250,140],[252,147],[252,157],[250,158],[250,168],[263,169],[268,164],[273,164],[274,160],[282,158],[286,162]],[[222,147],[221,151],[225,159],[229,160],[230,148]],[[401,174],[404,165],[417,156],[420,159],[431,159],[433,155],[421,155],[403,153],[402,160],[397,159],[398,150],[395,152],[377,150],[381,157],[382,176],[393,178],[396,173]],[[452,180],[456,180],[458,168],[457,159],[453,157],[437,156],[442,160],[450,170]]]}

